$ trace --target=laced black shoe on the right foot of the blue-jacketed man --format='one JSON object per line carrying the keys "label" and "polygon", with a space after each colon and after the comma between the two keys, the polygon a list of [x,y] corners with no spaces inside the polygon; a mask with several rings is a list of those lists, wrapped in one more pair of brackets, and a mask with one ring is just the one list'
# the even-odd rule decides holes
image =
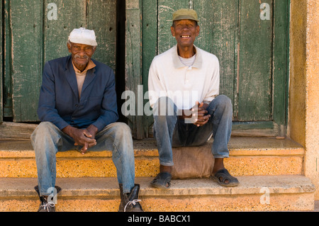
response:
{"label": "laced black shoe on the right foot of the blue-jacketed man", "polygon": [[123,185],[120,183],[121,203],[118,212],[143,212],[138,199],[140,185],[135,183],[130,193],[123,193]]}

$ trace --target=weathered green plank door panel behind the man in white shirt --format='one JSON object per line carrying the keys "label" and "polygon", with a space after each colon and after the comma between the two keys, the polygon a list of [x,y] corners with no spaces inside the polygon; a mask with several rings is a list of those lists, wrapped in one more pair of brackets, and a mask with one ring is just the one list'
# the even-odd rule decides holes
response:
{"label": "weathered green plank door panel behind the man in white shirt", "polygon": [[[195,44],[220,60],[220,94],[232,99],[234,120],[271,120],[272,20],[261,20],[259,1],[159,0],[157,54],[176,45],[169,29],[172,13],[189,8],[190,3],[201,26]],[[265,3],[272,6],[271,0]],[[143,12],[143,16],[146,14],[149,16],[148,11]],[[145,29],[142,30],[144,35]],[[144,45],[150,42],[153,40],[142,41],[143,52]]]}

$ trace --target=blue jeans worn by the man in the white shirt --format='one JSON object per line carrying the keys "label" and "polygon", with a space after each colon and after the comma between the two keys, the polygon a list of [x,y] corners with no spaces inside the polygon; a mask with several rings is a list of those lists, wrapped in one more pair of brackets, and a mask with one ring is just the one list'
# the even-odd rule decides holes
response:
{"label": "blue jeans worn by the man in the white shirt", "polygon": [[178,117],[179,111],[172,99],[159,98],[153,108],[154,135],[159,152],[159,163],[173,166],[172,147],[201,146],[213,135],[211,152],[214,158],[228,158],[233,120],[233,106],[230,98],[217,96],[206,108],[211,115],[208,123],[197,127]]}

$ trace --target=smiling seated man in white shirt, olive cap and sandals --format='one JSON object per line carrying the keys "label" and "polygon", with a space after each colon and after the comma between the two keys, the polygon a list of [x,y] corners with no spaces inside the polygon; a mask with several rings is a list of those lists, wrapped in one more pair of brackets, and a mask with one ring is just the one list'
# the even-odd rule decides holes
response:
{"label": "smiling seated man in white shirt, olive cap and sandals", "polygon": [[199,30],[196,11],[173,13],[171,31],[177,45],[157,55],[150,66],[148,87],[160,164],[151,182],[156,188],[171,184],[172,147],[203,145],[211,135],[215,159],[211,179],[222,186],[239,184],[223,164],[229,157],[232,103],[219,95],[218,58],[194,45]]}

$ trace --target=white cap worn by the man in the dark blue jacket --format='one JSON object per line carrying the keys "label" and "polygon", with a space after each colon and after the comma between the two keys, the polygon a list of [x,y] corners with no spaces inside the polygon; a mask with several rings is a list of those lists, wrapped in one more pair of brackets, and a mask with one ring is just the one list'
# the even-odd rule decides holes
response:
{"label": "white cap worn by the man in the dark blue jacket", "polygon": [[71,43],[84,45],[97,45],[94,30],[88,30],[85,28],[75,28],[72,30],[72,32],[69,34],[69,41]]}

